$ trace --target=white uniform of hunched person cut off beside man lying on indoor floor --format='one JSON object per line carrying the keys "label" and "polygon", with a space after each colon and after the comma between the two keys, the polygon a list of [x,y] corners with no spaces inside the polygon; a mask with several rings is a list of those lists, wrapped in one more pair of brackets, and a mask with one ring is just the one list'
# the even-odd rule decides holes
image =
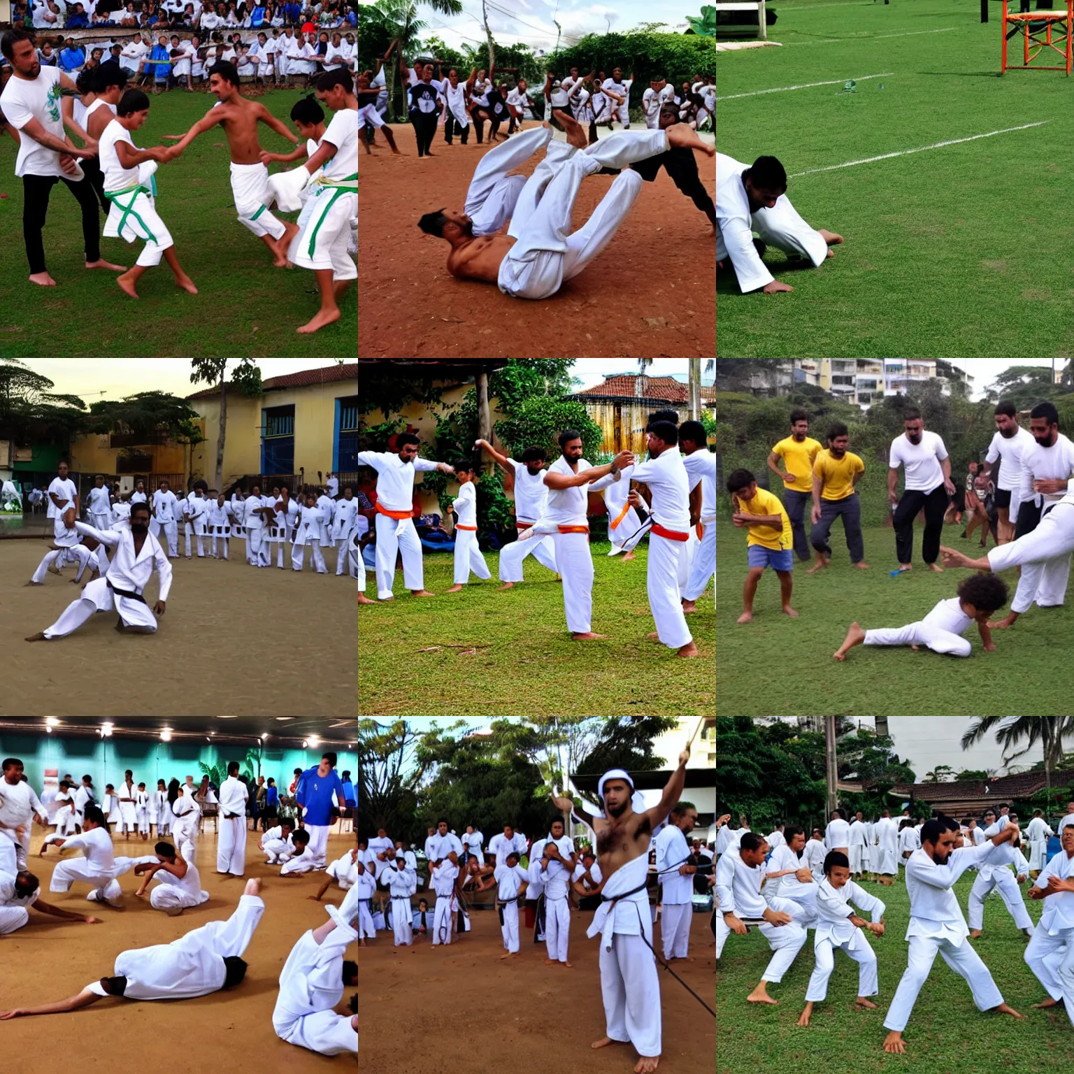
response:
{"label": "white uniform of hunched person cut off beside man lying on indoor floor", "polygon": [[[330,911],[332,913],[332,911]],[[343,999],[344,952],[358,932],[336,918],[336,927],[318,943],[311,929],[299,939],[279,975],[272,1013],[276,1035],[323,1056],[358,1055],[358,1033],[349,1014],[333,1007]]]}

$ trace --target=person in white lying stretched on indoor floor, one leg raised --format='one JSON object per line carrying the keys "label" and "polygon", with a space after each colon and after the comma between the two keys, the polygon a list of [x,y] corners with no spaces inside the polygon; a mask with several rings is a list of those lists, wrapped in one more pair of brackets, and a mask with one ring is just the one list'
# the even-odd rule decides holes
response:
{"label": "person in white lying stretched on indoor floor, one leg raised", "polygon": [[121,952],[116,956],[114,976],[101,977],[58,1003],[0,1012],[0,1019],[77,1011],[107,996],[185,1000],[234,988],[246,976],[242,955],[264,913],[259,889],[260,881],[248,880],[246,891],[228,920],[209,921],[168,944]]}

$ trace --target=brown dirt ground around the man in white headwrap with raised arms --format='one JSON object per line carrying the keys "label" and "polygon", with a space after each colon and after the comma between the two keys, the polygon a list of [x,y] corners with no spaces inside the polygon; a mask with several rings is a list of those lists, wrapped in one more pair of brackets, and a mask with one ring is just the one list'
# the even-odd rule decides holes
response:
{"label": "brown dirt ground around the man in white headwrap with raised arms", "polygon": [[[629,1045],[594,1051],[605,1035],[598,939],[587,940],[592,912],[571,911],[569,960],[547,966],[545,944],[533,943],[520,912],[522,950],[502,961],[494,911],[474,912],[474,929],[449,947],[418,939],[395,947],[378,932],[359,947],[359,1055],[363,1068],[392,1074],[435,1070],[552,1071],[629,1074],[638,1055]],[[661,950],[659,926],[654,940]],[[694,914],[692,962],[671,966],[715,1006],[715,945],[709,915]],[[716,1054],[715,1019],[669,973],[659,969],[663,1057],[668,1074],[709,1074]],[[421,1016],[416,1012],[421,1011]],[[434,1058],[435,1057],[435,1058]]]}

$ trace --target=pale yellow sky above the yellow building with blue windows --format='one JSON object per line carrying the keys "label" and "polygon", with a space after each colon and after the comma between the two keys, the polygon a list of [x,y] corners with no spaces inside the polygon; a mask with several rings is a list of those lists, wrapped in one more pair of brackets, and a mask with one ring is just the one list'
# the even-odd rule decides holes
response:
{"label": "pale yellow sky above the yellow building with blue windows", "polygon": [[[186,358],[28,358],[24,363],[48,377],[57,395],[77,395],[89,406],[100,400],[121,400],[136,392],[171,392],[180,398],[209,387],[191,383]],[[262,358],[261,377],[319,369],[333,363],[325,358]],[[235,363],[229,363],[233,368]]]}

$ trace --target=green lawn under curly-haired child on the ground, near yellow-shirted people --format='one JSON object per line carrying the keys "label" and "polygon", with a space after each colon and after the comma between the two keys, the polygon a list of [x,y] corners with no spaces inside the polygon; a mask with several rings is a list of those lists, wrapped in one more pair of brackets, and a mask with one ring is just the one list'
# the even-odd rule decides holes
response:
{"label": "green lawn under curly-haired child on the ground, near yellow-shirted people", "polygon": [[[973,540],[960,540],[960,526],[944,527],[943,541],[968,555],[978,552]],[[996,652],[986,653],[977,628],[964,637],[973,647],[967,659],[939,656],[909,648],[857,645],[840,664],[831,654],[846,628],[857,620],[866,629],[896,627],[923,619],[938,601],[955,596],[964,570],[932,574],[920,558],[921,526],[914,526],[914,569],[891,578],[898,563],[890,527],[866,527],[866,562],[858,570],[850,562],[837,522],[830,543],[831,566],[807,576],[795,560],[793,606],[799,618],[780,611],[779,580],[766,570],[757,586],[752,623],[736,623],[742,611],[746,575],[744,531],[730,523],[716,531],[720,577],[716,613],[720,658],[716,686],[720,711],[743,716],[959,716],[1061,715],[1070,711],[1065,668],[1074,611],[1040,609],[1035,605],[1010,630],[993,630]],[[1011,595],[1017,585],[1013,570],[1001,577]],[[1010,610],[1007,608],[1000,618]],[[741,673],[752,669],[743,688]],[[996,684],[1006,684],[996,688]],[[992,684],[992,685],[989,685]]]}

